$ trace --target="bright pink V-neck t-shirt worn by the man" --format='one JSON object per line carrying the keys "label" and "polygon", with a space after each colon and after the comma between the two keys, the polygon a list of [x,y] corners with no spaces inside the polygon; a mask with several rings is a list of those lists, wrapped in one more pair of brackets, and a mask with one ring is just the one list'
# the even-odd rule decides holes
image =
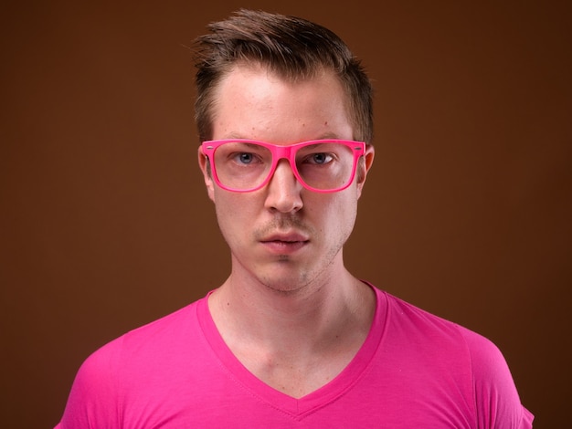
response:
{"label": "bright pink V-neck t-shirt worn by the man", "polygon": [[491,341],[374,290],[374,323],[354,360],[301,399],[235,358],[203,298],[94,352],[57,427],[532,427]]}

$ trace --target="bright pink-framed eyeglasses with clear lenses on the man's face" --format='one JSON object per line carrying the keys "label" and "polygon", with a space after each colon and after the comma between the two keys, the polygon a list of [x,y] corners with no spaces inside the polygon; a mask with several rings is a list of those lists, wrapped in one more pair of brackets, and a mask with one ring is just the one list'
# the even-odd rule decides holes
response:
{"label": "bright pink-framed eyeglasses with clear lenses on the man's face", "polygon": [[355,177],[357,161],[365,152],[362,141],[315,140],[281,146],[263,141],[204,141],[218,186],[248,193],[270,182],[281,159],[290,162],[294,176],[310,191],[334,193],[347,188]]}

